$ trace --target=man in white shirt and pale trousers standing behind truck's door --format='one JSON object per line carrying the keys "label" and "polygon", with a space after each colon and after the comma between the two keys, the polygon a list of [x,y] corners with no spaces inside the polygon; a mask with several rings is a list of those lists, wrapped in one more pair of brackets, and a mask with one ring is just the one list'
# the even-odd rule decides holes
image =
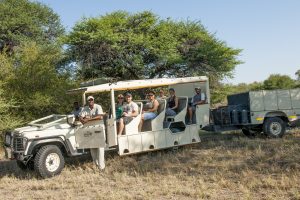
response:
{"label": "man in white shirt and pale trousers standing behind truck's door", "polygon": [[[86,124],[90,121],[103,120],[103,110],[102,107],[98,104],[95,104],[94,97],[88,96],[87,98],[88,106],[85,106],[82,112],[80,113],[79,120],[82,124]],[[101,123],[104,130],[103,121]],[[104,163],[104,145],[100,148],[91,148],[91,155],[94,163],[99,167],[99,169],[105,168]]]}

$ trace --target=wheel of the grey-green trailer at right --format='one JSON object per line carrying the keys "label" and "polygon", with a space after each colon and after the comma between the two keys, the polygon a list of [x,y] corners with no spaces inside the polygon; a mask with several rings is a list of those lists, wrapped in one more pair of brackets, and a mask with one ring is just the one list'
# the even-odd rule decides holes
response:
{"label": "wheel of the grey-green trailer at right", "polygon": [[286,129],[286,123],[279,117],[267,118],[263,125],[264,133],[270,138],[281,138]]}

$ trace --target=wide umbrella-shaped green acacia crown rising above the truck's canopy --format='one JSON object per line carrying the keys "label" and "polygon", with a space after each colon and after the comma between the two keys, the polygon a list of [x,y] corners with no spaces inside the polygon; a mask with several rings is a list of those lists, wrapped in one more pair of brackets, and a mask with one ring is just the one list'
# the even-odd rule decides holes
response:
{"label": "wide umbrella-shaped green acacia crown rising above the truck's canopy", "polygon": [[118,11],[78,22],[65,37],[79,79],[231,76],[241,50],[200,22],[162,20],[152,12]]}

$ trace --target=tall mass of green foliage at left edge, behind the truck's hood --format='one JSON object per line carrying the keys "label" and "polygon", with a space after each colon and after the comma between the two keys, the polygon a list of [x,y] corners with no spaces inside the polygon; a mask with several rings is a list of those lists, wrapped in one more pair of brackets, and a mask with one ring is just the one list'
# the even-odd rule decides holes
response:
{"label": "tall mass of green foliage at left edge, behind the truck's hood", "polygon": [[[62,70],[58,42],[63,33],[51,8],[29,0],[0,0],[0,103],[1,98],[14,103],[9,113],[0,110],[5,117],[28,122],[70,109],[66,90],[73,81]],[[0,131],[3,125],[0,121]]]}

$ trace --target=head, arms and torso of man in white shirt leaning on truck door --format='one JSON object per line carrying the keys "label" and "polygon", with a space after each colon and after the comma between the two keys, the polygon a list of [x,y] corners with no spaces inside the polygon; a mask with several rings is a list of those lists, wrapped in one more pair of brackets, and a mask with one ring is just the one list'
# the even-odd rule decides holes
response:
{"label": "head, arms and torso of man in white shirt leaning on truck door", "polygon": [[82,124],[85,124],[89,121],[102,120],[103,119],[103,110],[102,107],[94,103],[94,97],[89,96],[87,98],[88,106],[85,106],[80,112],[79,120]]}

